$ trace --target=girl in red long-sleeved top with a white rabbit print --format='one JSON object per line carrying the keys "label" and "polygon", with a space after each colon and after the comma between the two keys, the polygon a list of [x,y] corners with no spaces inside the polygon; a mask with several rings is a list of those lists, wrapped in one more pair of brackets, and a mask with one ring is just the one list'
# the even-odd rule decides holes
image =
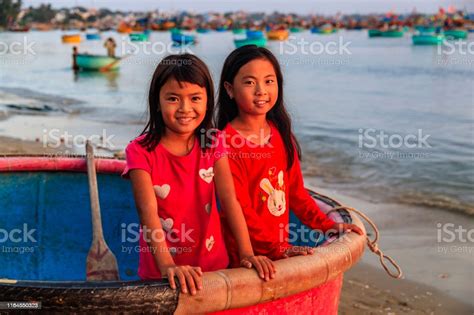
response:
{"label": "girl in red long-sleeved top with a white rabbit print", "polygon": [[[229,147],[237,199],[254,252],[271,259],[313,253],[311,247],[289,244],[290,208],[312,229],[363,233],[356,225],[328,218],[306,191],[282,87],[275,56],[266,48],[243,46],[224,62],[217,102],[217,125]],[[231,266],[238,267],[237,242],[227,213],[221,216]]]}

